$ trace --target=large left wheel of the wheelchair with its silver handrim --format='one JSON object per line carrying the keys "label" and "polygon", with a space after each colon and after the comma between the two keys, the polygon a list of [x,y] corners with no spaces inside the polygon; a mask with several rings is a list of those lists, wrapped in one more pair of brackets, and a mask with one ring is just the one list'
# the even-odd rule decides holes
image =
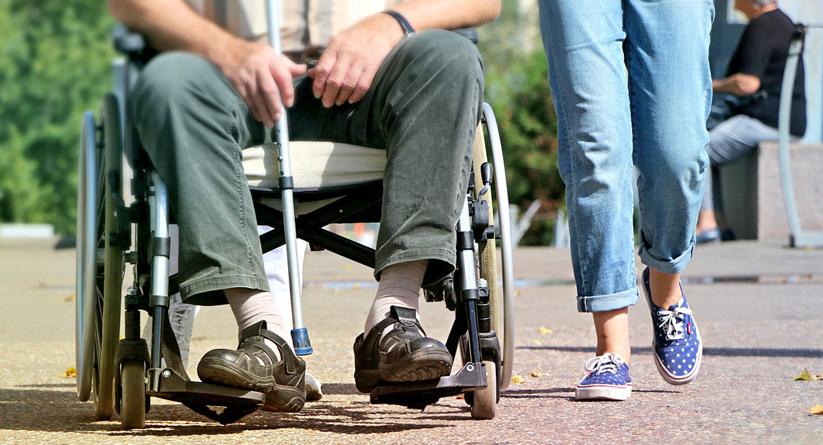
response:
{"label": "large left wheel of the wheelchair with its silver handrim", "polygon": [[118,103],[114,94],[107,94],[100,127],[91,112],[83,118],[77,203],[77,395],[85,401],[93,394],[97,420],[110,419],[114,411],[124,259],[112,234],[122,205],[122,168]]}

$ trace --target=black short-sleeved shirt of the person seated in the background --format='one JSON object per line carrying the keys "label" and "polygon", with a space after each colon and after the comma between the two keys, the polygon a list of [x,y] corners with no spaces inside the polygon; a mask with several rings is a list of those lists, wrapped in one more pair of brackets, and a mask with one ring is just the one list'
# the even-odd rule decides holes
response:
{"label": "black short-sleeved shirt of the person seated in the background", "polygon": [[[765,99],[746,105],[738,111],[751,116],[768,126],[778,126],[780,108],[780,87],[783,85],[783,70],[786,68],[788,46],[791,44],[795,27],[783,11],[775,9],[752,20],[728,65],[727,76],[743,73],[760,78],[760,90],[765,90]],[[802,136],[806,132],[806,92],[803,83],[803,58],[797,63],[797,78],[794,80],[792,95],[792,122],[789,132]]]}

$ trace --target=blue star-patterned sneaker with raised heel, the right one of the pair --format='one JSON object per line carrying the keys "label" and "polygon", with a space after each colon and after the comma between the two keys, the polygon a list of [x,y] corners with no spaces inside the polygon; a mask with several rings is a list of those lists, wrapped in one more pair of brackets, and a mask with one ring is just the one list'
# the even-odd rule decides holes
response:
{"label": "blue star-patterned sneaker with raised heel, the right one of the pair", "polygon": [[[654,305],[649,291],[649,268],[643,271],[643,291],[652,312],[654,365],[668,383],[689,383],[700,369],[703,342],[700,341],[700,331],[686,303],[686,296],[667,310]],[[682,294],[682,285],[680,291]]]}

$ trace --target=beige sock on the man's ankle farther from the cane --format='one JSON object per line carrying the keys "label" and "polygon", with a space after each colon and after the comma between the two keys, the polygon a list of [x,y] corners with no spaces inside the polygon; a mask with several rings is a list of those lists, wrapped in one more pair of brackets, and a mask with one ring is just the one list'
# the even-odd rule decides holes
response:
{"label": "beige sock on the man's ankle farther from the cane", "polygon": [[423,283],[428,259],[393,264],[380,273],[377,296],[371,304],[369,316],[365,319],[365,332],[369,333],[374,325],[388,317],[392,306],[401,306],[413,310],[420,307],[420,287]]}

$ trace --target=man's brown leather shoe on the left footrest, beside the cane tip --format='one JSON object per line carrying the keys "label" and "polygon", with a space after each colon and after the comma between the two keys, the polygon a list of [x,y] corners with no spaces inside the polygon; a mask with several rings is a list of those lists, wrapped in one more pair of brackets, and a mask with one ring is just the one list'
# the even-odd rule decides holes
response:
{"label": "man's brown leather shoe on the left footrest, beside the cane tip", "polygon": [[[208,351],[198,364],[203,382],[250,389],[266,393],[263,411],[296,412],[306,400],[305,361],[295,356],[291,348],[276,333],[266,329],[266,321],[245,328],[236,351]],[[280,351],[272,351],[264,339],[272,341]],[[262,363],[261,363],[262,362]]]}

